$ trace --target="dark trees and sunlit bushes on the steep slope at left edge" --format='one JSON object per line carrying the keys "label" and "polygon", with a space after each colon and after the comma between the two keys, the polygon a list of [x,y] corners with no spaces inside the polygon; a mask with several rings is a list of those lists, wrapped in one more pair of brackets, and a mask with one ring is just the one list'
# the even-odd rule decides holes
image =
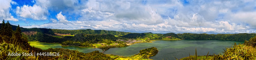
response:
{"label": "dark trees and sunlit bushes on the steep slope at left edge", "polygon": [[19,25],[16,31],[12,30],[12,26],[3,20],[0,29],[0,58],[2,59],[29,59],[27,56],[8,56],[8,52],[40,52],[42,49],[31,47],[27,37],[23,36]]}

